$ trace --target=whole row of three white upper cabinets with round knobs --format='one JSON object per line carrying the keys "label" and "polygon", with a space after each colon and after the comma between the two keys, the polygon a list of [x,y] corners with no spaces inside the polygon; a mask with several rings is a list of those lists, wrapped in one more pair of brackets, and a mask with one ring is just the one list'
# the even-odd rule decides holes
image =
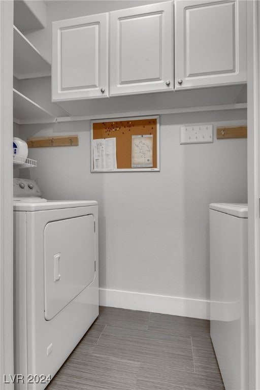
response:
{"label": "whole row of three white upper cabinets with round knobs", "polygon": [[176,0],[53,22],[53,101],[246,79],[245,0]]}

